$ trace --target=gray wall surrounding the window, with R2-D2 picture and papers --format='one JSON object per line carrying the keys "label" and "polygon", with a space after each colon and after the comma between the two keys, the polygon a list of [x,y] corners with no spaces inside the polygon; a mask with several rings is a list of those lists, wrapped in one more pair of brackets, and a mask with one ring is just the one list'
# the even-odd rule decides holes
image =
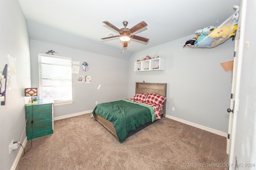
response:
{"label": "gray wall surrounding the window, with R2-D2 picture and papers", "polygon": [[[96,106],[96,101],[100,104],[126,98],[128,94],[127,60],[36,40],[30,40],[31,84],[33,87],[39,87],[38,53],[45,53],[51,49],[58,53],[54,53],[54,55],[71,57],[72,61],[80,61],[80,64],[87,62],[90,67],[87,72],[80,69],[79,74],[72,74],[74,102],[64,106],[55,106],[54,117],[92,110]],[[78,83],[77,75],[91,76],[92,83]],[[102,86],[98,90],[99,84]]]}

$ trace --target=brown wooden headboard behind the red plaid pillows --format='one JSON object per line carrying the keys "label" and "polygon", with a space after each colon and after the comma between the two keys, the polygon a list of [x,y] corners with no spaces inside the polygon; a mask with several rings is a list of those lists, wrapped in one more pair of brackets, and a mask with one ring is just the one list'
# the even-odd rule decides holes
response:
{"label": "brown wooden headboard behind the red plaid pillows", "polygon": [[[135,94],[138,93],[155,93],[160,96],[166,97],[166,83],[140,83],[136,82]],[[165,117],[166,113],[166,101],[164,102],[164,109],[160,110],[160,115]]]}

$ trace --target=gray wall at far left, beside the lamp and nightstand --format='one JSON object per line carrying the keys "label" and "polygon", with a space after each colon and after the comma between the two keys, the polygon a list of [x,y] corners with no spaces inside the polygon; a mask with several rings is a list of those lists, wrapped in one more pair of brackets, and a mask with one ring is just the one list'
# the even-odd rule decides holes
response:
{"label": "gray wall at far left, beside the lamp and nightstand", "polygon": [[20,149],[9,154],[9,144],[13,139],[23,142],[26,137],[26,132],[22,136],[25,128],[24,89],[30,87],[30,54],[28,29],[19,2],[0,0],[0,16],[0,71],[8,64],[8,55],[16,59],[16,72],[9,72],[6,105],[0,106],[0,169],[7,170]]}

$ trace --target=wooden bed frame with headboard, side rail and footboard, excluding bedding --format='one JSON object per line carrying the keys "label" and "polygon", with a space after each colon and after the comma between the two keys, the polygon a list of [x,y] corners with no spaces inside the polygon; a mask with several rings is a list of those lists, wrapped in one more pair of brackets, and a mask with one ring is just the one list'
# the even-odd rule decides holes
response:
{"label": "wooden bed frame with headboard, side rail and footboard, excluding bedding", "polygon": [[[155,94],[159,94],[160,96],[166,97],[166,86],[167,86],[166,83],[140,83],[140,82],[136,82],[135,94],[138,94],[138,93],[147,93],[147,94],[155,93]],[[164,109],[159,111],[161,117],[165,117],[166,101],[164,102],[163,105],[164,105]],[[104,126],[108,131],[110,131],[110,133],[112,133],[116,137],[116,139],[119,141],[118,136],[116,135],[116,129],[114,128],[114,125],[113,125],[112,122],[108,121],[107,119],[104,119],[103,117],[101,117],[97,113],[94,114],[94,119],[95,119],[95,121],[98,121],[102,126]],[[142,126],[136,128],[136,130],[128,133],[127,137],[130,137],[131,135],[133,135],[133,134],[137,133],[138,131],[144,129],[145,127],[147,127],[150,124],[152,124],[152,122],[146,123],[145,125],[142,125]]]}

